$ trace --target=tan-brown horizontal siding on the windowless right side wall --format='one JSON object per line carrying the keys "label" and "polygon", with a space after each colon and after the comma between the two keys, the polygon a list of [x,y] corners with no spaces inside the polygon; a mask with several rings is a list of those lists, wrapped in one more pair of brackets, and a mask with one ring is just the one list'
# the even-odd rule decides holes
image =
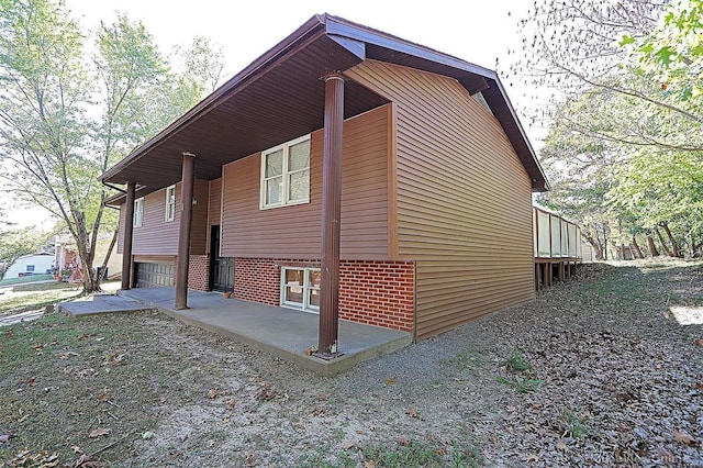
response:
{"label": "tan-brown horizontal siding on the windowless right side wall", "polygon": [[367,60],[345,75],[397,108],[399,258],[416,260],[416,337],[534,298],[531,182],[456,80]]}

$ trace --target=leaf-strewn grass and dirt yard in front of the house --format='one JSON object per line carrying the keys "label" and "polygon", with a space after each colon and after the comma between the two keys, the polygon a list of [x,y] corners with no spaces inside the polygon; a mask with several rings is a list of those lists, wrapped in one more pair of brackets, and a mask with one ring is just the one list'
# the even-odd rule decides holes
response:
{"label": "leaf-strewn grass and dirt yard in front of the house", "polygon": [[671,308],[703,305],[702,272],[584,266],[531,303],[335,378],[158,313],[47,315],[0,330],[0,460],[700,466],[702,325]]}

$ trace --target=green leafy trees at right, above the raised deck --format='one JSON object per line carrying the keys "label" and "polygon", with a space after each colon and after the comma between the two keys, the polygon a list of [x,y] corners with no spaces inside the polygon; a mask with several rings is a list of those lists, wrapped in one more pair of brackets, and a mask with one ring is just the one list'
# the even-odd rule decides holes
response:
{"label": "green leafy trees at right, above the raised deck", "polygon": [[645,235],[652,255],[656,241],[672,256],[700,249],[701,4],[538,0],[522,22],[512,71],[556,96],[536,115],[551,126],[540,157],[554,191],[540,202],[592,244],[641,253]]}

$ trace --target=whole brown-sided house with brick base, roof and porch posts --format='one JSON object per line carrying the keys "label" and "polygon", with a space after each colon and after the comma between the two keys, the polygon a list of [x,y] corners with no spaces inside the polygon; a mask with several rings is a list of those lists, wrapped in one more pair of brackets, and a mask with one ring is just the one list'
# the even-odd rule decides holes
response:
{"label": "whole brown-sided house with brick base, roof and porch posts", "polygon": [[547,182],[495,73],[339,18],[313,16],[101,179],[126,185],[109,200],[123,288],[320,313],[324,352],[338,319],[422,339],[534,298]]}

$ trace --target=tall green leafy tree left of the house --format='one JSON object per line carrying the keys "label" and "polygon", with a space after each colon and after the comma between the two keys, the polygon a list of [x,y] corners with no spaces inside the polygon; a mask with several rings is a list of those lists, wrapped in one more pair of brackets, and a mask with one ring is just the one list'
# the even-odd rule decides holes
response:
{"label": "tall green leafy tree left of the house", "polygon": [[98,176],[192,107],[201,88],[124,15],[101,24],[92,60],[87,41],[62,2],[0,0],[0,179],[66,226],[83,288],[94,291],[98,236],[116,235]]}

